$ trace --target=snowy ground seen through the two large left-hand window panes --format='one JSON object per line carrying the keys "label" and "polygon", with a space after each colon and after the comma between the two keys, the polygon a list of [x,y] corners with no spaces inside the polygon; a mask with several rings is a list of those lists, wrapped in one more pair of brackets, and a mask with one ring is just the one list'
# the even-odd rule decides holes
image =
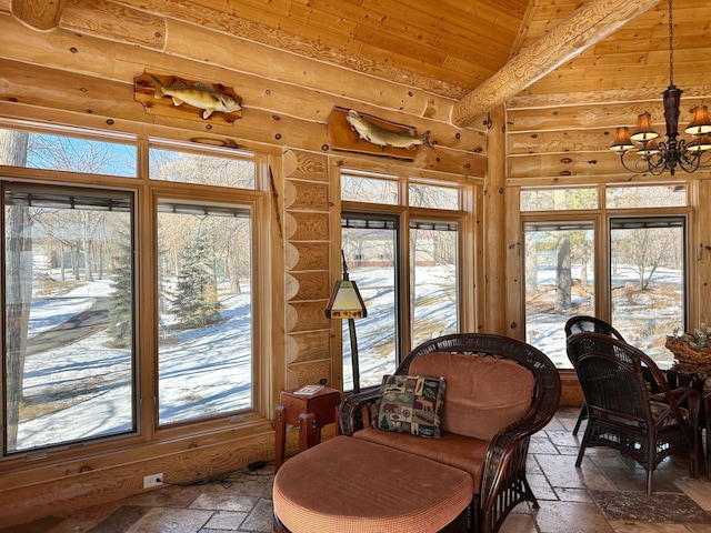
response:
{"label": "snowy ground seen through the two large left-hand window panes", "polygon": [[[92,282],[61,298],[33,301],[29,336],[71,318],[68,309],[84,311],[110,292],[106,281]],[[231,295],[222,300],[220,324],[162,338],[161,424],[251,406],[249,303],[249,293]],[[20,421],[18,449],[133,430],[131,403],[138,399],[131,390],[131,353],[107,348],[109,340],[101,330],[27,358],[24,398],[36,409],[28,409],[31,416]]]}

